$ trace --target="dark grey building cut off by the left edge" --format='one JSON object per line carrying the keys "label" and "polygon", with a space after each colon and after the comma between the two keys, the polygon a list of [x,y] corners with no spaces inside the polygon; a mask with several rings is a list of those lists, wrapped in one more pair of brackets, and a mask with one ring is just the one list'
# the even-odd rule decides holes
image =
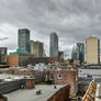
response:
{"label": "dark grey building cut off by the left edge", "polygon": [[7,47],[0,47],[0,63],[5,63],[5,56],[8,54]]}

